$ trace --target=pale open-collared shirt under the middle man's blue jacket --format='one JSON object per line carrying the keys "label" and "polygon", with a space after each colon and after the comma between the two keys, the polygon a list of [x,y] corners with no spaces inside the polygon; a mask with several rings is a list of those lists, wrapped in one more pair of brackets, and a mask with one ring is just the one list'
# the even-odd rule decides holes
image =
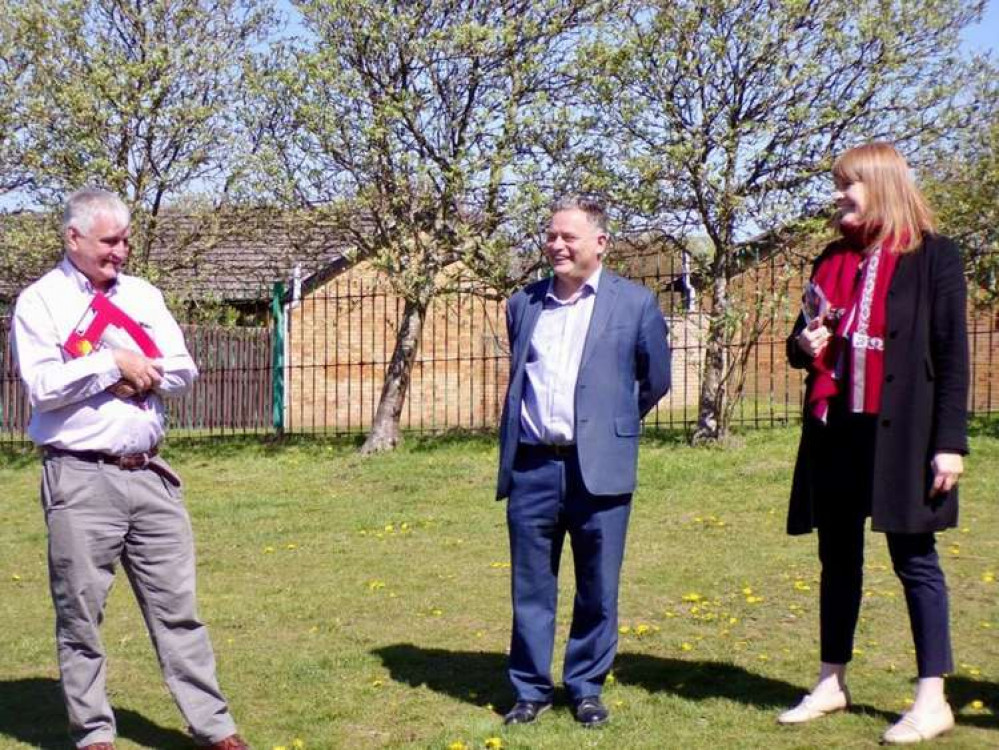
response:
{"label": "pale open-collared shirt under the middle man's blue jacket", "polygon": [[554,278],[548,286],[524,372],[520,435],[525,443],[575,442],[576,378],[602,270],[566,300],[555,296]]}

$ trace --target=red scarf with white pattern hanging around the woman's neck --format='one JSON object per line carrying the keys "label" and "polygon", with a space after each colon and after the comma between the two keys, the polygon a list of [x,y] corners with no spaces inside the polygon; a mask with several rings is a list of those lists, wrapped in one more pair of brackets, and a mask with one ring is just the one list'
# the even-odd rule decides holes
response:
{"label": "red scarf with white pattern hanging around the woman's neck", "polygon": [[824,297],[824,322],[833,331],[825,350],[812,360],[808,409],[825,422],[829,402],[849,388],[851,412],[877,414],[881,409],[888,287],[898,263],[896,243],[871,246],[862,236],[845,234],[819,261],[812,294]]}

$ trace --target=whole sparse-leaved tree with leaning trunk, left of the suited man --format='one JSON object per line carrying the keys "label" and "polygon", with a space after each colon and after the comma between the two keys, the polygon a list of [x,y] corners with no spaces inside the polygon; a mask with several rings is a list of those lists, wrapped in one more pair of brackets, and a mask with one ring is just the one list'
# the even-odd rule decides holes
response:
{"label": "whole sparse-leaved tree with leaning trunk, left of the suited man", "polygon": [[[508,288],[574,146],[572,45],[591,0],[309,0],[310,38],[260,71],[261,165],[283,202],[338,217],[404,300],[363,451],[391,449],[441,271]],[[262,180],[261,182],[267,182]]]}

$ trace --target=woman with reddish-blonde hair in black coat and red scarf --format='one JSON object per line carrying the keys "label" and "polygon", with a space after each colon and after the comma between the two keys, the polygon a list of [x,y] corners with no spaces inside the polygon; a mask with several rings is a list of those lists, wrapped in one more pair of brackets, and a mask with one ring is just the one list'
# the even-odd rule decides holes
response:
{"label": "woman with reddish-blonde hair in black coat and red scarf", "polygon": [[812,691],[778,721],[802,723],[850,703],[846,665],[870,516],[905,590],[919,673],[912,708],[882,739],[919,742],[954,725],[934,532],[957,524],[968,452],[963,267],[892,146],[847,151],[833,178],[841,236],[816,261],[787,342],[791,365],[809,371],[788,532],[818,530],[822,663]]}

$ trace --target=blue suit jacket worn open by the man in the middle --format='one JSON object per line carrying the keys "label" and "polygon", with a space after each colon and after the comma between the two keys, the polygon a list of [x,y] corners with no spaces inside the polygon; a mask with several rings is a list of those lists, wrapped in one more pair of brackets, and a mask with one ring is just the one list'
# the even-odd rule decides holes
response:
{"label": "blue suit jacket worn open by the man in the middle", "polygon": [[[520,441],[525,365],[548,285],[547,279],[531,284],[507,303],[510,384],[500,423],[497,499],[510,494]],[[666,321],[656,298],[644,286],[605,268],[576,380],[576,449],[583,482],[591,494],[634,491],[641,419],[669,385]]]}

